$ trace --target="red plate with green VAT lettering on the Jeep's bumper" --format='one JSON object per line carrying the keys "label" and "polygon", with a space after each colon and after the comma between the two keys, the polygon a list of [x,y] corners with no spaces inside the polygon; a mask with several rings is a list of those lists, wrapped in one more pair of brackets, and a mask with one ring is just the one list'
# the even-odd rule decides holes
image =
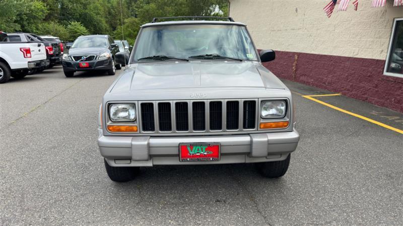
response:
{"label": "red plate with green VAT lettering on the Jeep's bumper", "polygon": [[179,161],[219,161],[220,144],[218,143],[191,143],[179,144]]}

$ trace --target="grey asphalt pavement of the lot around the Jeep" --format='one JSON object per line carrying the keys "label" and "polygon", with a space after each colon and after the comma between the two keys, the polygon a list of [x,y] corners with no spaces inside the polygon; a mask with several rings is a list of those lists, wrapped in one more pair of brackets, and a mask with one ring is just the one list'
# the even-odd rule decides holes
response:
{"label": "grey asphalt pavement of the lot around the Jeep", "polygon": [[[158,166],[112,182],[97,111],[118,73],[66,78],[56,66],[0,85],[1,225],[403,222],[403,135],[305,98],[329,92],[289,81],[301,140],[284,177],[245,164]],[[403,130],[398,112],[317,99]]]}

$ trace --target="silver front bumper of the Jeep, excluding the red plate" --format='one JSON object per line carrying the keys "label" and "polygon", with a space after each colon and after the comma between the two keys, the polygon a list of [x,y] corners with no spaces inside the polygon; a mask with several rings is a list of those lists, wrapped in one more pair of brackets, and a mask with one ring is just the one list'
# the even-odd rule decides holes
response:
{"label": "silver front bumper of the Jeep, excluding the red plate", "polygon": [[[98,129],[98,146],[110,166],[195,165],[280,161],[295,151],[299,141],[292,132],[183,137],[103,136]],[[221,160],[180,162],[180,143],[220,143]]]}

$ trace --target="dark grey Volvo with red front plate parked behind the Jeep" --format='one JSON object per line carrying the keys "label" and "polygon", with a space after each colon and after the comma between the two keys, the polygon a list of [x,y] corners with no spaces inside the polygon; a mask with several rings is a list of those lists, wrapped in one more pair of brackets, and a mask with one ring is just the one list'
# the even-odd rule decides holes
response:
{"label": "dark grey Volvo with red front plate parked behind the Jeep", "polygon": [[69,54],[63,54],[63,71],[66,77],[74,76],[76,71],[99,70],[114,75],[121,69],[115,63],[115,54],[119,52],[117,44],[109,35],[80,36],[73,45],[66,45]]}

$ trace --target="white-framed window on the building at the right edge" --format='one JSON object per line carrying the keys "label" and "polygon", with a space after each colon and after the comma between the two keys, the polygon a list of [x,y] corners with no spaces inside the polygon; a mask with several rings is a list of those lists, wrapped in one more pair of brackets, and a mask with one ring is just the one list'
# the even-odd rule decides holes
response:
{"label": "white-framed window on the building at the right edge", "polygon": [[403,18],[394,19],[383,74],[403,78]]}

